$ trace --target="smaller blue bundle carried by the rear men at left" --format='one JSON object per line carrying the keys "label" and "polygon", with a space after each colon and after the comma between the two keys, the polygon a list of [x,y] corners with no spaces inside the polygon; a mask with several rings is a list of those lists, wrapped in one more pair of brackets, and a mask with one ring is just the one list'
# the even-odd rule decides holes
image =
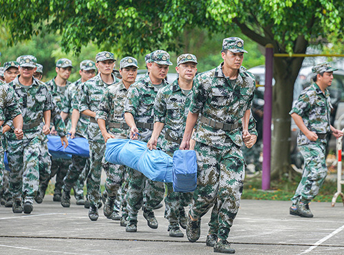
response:
{"label": "smaller blue bundle carried by the rear men at left", "polygon": [[68,139],[68,146],[64,148],[59,136],[47,136],[47,148],[53,158],[70,159],[72,155],[89,157],[89,145],[87,139],[76,137]]}

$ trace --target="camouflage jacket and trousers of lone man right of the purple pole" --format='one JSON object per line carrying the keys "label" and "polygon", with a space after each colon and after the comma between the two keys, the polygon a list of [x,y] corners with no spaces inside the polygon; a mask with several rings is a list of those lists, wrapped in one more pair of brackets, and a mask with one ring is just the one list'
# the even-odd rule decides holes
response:
{"label": "camouflage jacket and trousers of lone man right of the purple pole", "polygon": [[[330,93],[321,91],[316,83],[301,92],[299,99],[289,114],[296,113],[302,117],[303,123],[312,132],[318,134],[330,134]],[[308,204],[318,193],[327,175],[325,163],[326,139],[310,141],[301,131],[297,136],[297,145],[305,159],[302,179],[297,191],[292,197],[292,203],[298,201]]]}

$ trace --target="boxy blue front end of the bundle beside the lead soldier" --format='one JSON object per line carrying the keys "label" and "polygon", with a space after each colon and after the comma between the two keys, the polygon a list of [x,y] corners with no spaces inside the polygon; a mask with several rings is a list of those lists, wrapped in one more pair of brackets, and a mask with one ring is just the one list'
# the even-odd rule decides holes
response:
{"label": "boxy blue front end of the bundle beside the lead soldier", "polygon": [[173,190],[193,192],[197,187],[197,159],[194,150],[173,153]]}

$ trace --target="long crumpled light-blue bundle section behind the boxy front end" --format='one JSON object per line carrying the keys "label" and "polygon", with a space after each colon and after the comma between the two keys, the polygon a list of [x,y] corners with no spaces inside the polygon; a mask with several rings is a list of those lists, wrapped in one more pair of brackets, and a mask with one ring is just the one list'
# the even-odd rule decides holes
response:
{"label": "long crumpled light-blue bundle section behind the boxy front end", "polygon": [[142,141],[109,139],[105,159],[138,170],[152,181],[172,182],[172,157],[161,150],[149,150]]}

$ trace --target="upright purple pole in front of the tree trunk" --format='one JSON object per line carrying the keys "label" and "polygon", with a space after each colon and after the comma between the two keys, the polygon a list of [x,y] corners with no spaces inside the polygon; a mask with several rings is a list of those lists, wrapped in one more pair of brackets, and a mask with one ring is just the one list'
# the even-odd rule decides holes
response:
{"label": "upright purple pole in front of the tree trunk", "polygon": [[261,176],[261,189],[270,190],[270,160],[271,160],[271,119],[272,119],[272,64],[274,48],[272,44],[266,45],[265,54],[265,91],[263,116],[263,174]]}

